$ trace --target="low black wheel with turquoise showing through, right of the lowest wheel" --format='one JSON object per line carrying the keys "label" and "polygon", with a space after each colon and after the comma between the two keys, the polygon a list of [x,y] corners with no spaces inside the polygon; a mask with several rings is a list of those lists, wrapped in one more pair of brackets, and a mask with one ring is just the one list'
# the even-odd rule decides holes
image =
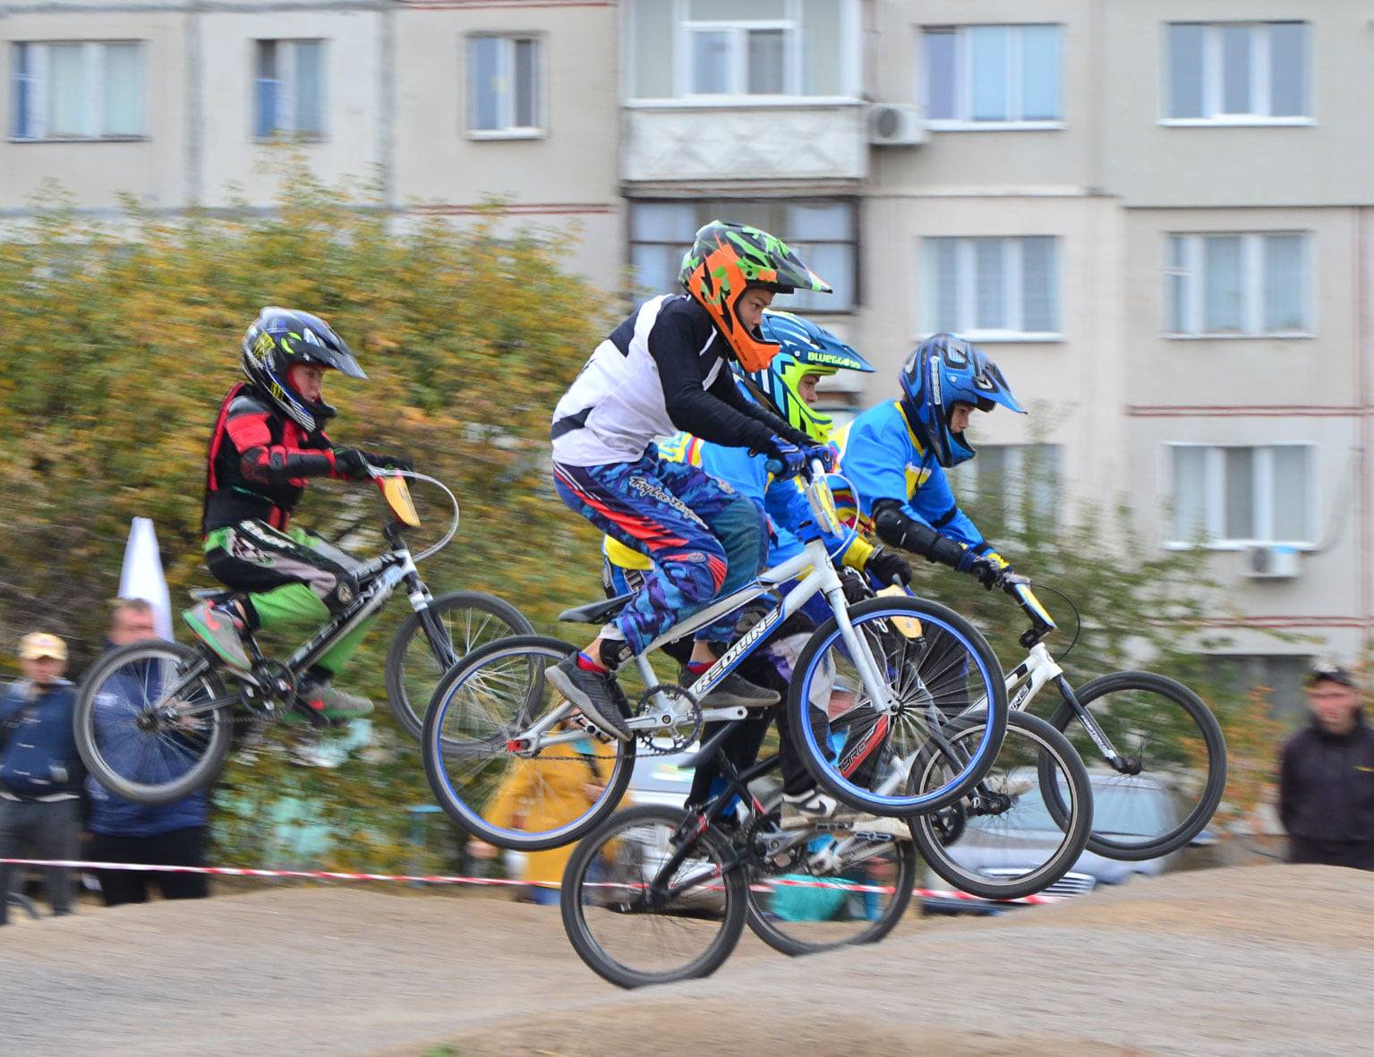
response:
{"label": "low black wheel with turquoise showing through, right of the lowest wheel", "polygon": [[915,882],[910,840],[816,833],[783,873],[752,871],[746,924],[790,957],[877,943],[907,913]]}

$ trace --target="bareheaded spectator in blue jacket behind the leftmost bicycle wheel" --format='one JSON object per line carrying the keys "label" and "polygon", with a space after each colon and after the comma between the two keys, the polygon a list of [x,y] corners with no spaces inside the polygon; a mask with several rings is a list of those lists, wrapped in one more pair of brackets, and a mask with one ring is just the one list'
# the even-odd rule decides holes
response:
{"label": "bareheaded spectator in blue jacket behind the leftmost bicycle wheel", "polygon": [[[114,603],[107,650],[158,638],[153,606],[142,598],[121,598]],[[148,672],[132,663],[106,683],[110,701],[104,708],[128,708],[146,696]],[[120,683],[129,683],[121,693]],[[206,794],[192,793],[170,804],[135,804],[111,794],[93,778],[87,781],[91,796],[91,844],[96,862],[148,863],[150,866],[203,866]],[[210,893],[205,874],[159,873],[153,870],[96,870],[100,895],[107,907],[144,903],[148,885],[155,884],[164,899],[203,899]]]}

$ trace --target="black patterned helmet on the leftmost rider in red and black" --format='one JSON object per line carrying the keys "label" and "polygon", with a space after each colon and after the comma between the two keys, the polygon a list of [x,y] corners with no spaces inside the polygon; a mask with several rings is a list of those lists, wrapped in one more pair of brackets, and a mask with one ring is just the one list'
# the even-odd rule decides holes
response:
{"label": "black patterned helmet on the leftmost rider in red and black", "polygon": [[286,374],[297,363],[331,367],[349,378],[367,375],[344,338],[319,316],[275,305],[258,313],[243,335],[243,374],[279,411],[295,419],[306,433],[313,433],[334,408],[306,400],[287,382]]}

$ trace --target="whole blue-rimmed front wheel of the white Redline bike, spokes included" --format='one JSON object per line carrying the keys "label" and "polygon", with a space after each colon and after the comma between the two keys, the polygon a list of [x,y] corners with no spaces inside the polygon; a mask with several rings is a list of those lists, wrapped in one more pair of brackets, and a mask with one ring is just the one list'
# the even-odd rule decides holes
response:
{"label": "whole blue-rimmed front wheel of the white Redline bike, spokes included", "polygon": [[[987,639],[952,609],[919,598],[872,598],[849,606],[868,646],[889,705],[870,698],[838,621],[822,624],[801,656],[787,691],[791,741],[829,793],[877,815],[934,811],[967,793],[996,759],[1007,727],[1007,690]],[[811,711],[824,723],[811,723]],[[944,744],[960,713],[985,719],[976,744],[927,789],[908,783],[911,766]]]}

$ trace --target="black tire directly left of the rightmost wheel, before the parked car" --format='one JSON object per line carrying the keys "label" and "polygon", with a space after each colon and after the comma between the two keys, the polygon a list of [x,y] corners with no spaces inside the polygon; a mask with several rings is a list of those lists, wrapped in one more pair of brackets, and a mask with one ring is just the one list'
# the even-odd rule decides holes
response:
{"label": "black tire directly left of the rightmost wheel, before the parked car", "polygon": [[[956,719],[951,727],[969,728],[980,722],[977,719]],[[1059,790],[1061,774],[1068,782],[1072,799],[1072,804],[1063,807],[1063,818],[1055,819],[1065,840],[1040,866],[1022,874],[998,878],[995,874],[985,874],[978,869],[960,863],[956,852],[952,849],[959,848],[960,840],[977,838],[980,834],[977,818],[969,821],[967,812],[966,827],[960,832],[959,838],[952,841],[941,840],[941,834],[936,832],[936,819],[932,815],[918,815],[910,821],[911,836],[915,838],[916,847],[921,849],[921,858],[926,860],[926,865],[959,891],[982,899],[1022,899],[1036,892],[1043,892],[1073,869],[1073,863],[1083,855],[1083,849],[1088,844],[1088,834],[1092,832],[1092,783],[1088,781],[1088,770],[1084,767],[1077,750],[1063,734],[1043,719],[1026,715],[1025,712],[1013,712],[1009,716],[1007,741],[1003,742],[1003,746],[1006,748],[1013,738],[1022,735],[1029,737],[1040,745],[1039,750],[1036,750],[1035,779],[1040,786],[1041,799],[1048,799],[1044,794],[1046,783],[1048,782],[1063,807],[1063,793]],[[958,737],[958,733],[952,734],[952,737]],[[934,759],[930,757],[925,761],[918,761],[918,767],[919,763],[933,764]],[[1055,771],[1057,764],[1059,768],[1058,772]],[[912,770],[915,771],[916,768]]]}

